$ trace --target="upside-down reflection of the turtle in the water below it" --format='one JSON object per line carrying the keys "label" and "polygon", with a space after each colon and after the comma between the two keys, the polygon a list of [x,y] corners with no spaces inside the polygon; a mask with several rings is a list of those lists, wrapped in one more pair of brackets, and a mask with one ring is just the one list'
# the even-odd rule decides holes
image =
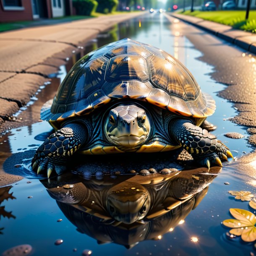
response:
{"label": "upside-down reflection of the turtle in the water below it", "polygon": [[167,175],[120,175],[116,179],[41,180],[65,216],[98,243],[131,248],[159,239],[195,209],[221,167],[175,171]]}

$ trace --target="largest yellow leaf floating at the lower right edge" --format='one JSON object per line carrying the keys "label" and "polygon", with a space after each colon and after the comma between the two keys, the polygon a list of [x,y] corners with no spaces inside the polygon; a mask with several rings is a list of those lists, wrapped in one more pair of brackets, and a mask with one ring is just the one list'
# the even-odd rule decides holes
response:
{"label": "largest yellow leaf floating at the lower right edge", "polygon": [[230,213],[235,219],[225,219],[222,223],[227,227],[232,227],[230,234],[240,235],[245,242],[256,240],[256,216],[243,209],[230,209]]}

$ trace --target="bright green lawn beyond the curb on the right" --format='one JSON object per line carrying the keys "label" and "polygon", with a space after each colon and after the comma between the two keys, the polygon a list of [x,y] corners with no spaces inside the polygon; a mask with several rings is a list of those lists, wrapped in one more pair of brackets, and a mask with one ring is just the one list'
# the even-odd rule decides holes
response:
{"label": "bright green lawn beyond the curb on the right", "polygon": [[221,24],[232,26],[235,29],[242,29],[256,33],[256,10],[250,10],[249,18],[246,21],[245,10],[217,10],[217,11],[199,11],[195,10],[191,13],[186,10],[184,13],[179,11],[180,14],[195,16],[207,21],[214,21]]}

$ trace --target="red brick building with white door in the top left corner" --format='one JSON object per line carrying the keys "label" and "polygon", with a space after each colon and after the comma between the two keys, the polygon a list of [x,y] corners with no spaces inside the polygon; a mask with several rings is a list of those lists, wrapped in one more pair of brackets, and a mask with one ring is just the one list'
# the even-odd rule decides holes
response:
{"label": "red brick building with white door in the top left corner", "polygon": [[72,0],[0,0],[0,22],[72,15]]}

